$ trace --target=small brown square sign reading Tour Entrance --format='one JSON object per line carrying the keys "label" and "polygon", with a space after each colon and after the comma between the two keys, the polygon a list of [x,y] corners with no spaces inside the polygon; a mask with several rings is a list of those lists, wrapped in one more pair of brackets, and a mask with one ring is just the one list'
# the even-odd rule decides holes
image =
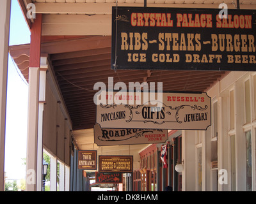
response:
{"label": "small brown square sign reading Tour Entrance", "polygon": [[97,150],[78,151],[79,170],[97,170]]}

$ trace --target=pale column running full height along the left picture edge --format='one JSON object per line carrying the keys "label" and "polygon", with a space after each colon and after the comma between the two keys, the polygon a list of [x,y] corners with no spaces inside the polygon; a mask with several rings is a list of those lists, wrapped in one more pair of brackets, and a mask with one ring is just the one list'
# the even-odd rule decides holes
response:
{"label": "pale column running full height along the left picture edge", "polygon": [[0,1],[0,191],[4,191],[4,152],[11,1]]}

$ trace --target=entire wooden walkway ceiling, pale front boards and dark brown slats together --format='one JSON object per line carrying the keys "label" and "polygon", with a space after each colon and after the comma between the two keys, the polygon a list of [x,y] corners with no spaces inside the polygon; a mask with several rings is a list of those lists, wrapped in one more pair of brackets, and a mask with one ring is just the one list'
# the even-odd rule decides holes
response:
{"label": "entire wooden walkway ceiling, pale front boards and dark brown slats together", "polygon": [[[93,128],[95,109],[93,85],[116,82],[163,82],[164,91],[205,92],[225,77],[224,71],[111,70],[111,8],[116,0],[18,0],[26,16],[27,5],[35,3],[43,14],[42,54],[48,54],[73,129]],[[256,1],[239,0],[241,9],[255,9]],[[118,0],[118,6],[144,6],[144,0]],[[147,6],[175,8],[218,8],[227,0],[147,0]],[[33,18],[28,19],[28,26]],[[76,35],[76,36],[74,36]],[[29,45],[10,47],[10,54],[28,80]]]}

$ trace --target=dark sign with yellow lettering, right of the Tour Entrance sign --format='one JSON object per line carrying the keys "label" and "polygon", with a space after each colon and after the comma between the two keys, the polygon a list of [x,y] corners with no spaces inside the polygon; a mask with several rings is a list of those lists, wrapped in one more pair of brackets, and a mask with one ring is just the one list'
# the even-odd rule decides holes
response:
{"label": "dark sign with yellow lettering, right of the Tour Entrance sign", "polygon": [[132,173],[133,156],[99,156],[100,173]]}

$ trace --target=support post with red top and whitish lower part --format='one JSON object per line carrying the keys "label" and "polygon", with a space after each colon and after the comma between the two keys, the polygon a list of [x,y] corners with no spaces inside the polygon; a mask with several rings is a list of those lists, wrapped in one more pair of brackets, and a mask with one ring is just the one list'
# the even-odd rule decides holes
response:
{"label": "support post with red top and whitish lower part", "polygon": [[40,54],[42,35],[42,14],[37,14],[31,25],[29,56],[29,99],[28,99],[28,141],[26,160],[26,191],[36,191],[38,101],[40,79]]}

